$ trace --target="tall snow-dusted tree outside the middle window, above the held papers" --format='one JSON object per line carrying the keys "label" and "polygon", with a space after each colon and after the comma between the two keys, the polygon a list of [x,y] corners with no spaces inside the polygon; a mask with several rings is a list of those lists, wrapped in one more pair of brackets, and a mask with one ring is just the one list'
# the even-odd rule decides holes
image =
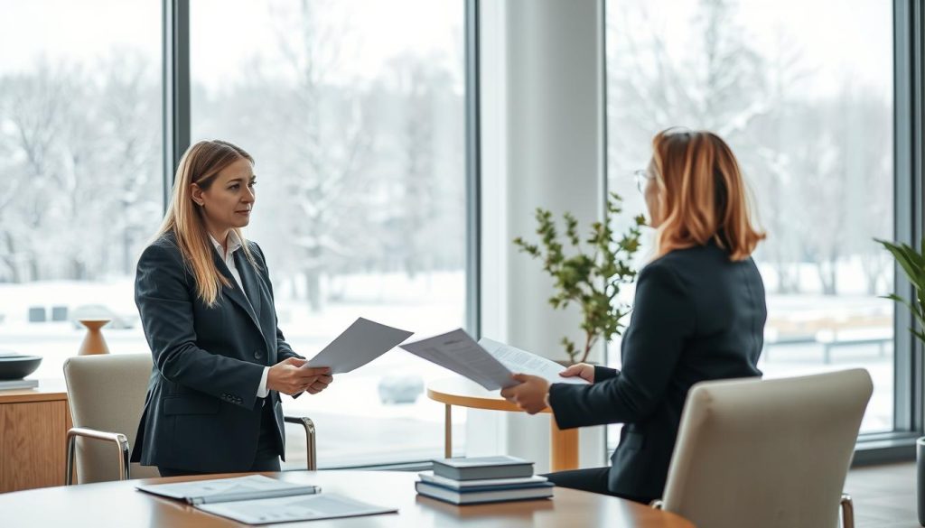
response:
{"label": "tall snow-dusted tree outside the middle window, above the held papers", "polygon": [[298,261],[313,311],[321,310],[321,278],[353,260],[370,241],[364,189],[375,140],[361,86],[334,78],[344,51],[349,19],[338,6],[302,0],[298,11],[277,13],[279,51],[294,80],[273,108],[284,143],[278,166],[285,175],[287,229],[302,249]]}

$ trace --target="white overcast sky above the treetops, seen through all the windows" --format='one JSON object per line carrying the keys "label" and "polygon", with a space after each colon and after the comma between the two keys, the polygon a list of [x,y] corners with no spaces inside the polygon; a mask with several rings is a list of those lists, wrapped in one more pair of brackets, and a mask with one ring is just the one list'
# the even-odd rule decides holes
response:
{"label": "white overcast sky above the treetops, seen through all the windows", "polygon": [[[609,13],[621,0],[609,0]],[[653,31],[676,35],[683,45],[697,0],[633,0],[657,13]],[[259,53],[272,55],[277,37],[269,2],[192,0],[194,79],[210,87],[240,79],[241,65]],[[296,6],[286,0],[274,5]],[[371,77],[389,57],[403,51],[435,51],[458,62],[462,56],[462,0],[336,0],[330,6],[351,12],[354,30],[345,37],[349,59],[340,65],[346,78]],[[860,80],[892,98],[892,3],[888,0],[743,0],[739,22],[759,50],[789,36],[820,66],[813,90],[828,92],[835,83]],[[0,71],[32,68],[35,58],[86,65],[115,46],[141,49],[160,64],[160,0],[0,0]],[[783,33],[782,33],[783,29]]]}

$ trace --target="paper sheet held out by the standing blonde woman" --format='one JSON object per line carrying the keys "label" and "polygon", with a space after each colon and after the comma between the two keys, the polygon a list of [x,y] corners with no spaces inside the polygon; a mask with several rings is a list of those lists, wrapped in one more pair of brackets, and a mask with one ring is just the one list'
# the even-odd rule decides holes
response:
{"label": "paper sheet held out by the standing blonde woman", "polygon": [[412,334],[360,317],[304,366],[330,367],[331,374],[348,373],[392,350]]}

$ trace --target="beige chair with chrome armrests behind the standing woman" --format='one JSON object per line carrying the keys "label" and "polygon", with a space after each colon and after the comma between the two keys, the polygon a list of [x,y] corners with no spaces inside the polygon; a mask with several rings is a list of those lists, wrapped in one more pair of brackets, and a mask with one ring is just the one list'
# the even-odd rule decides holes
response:
{"label": "beige chair with chrome armrests behind the standing woman", "polygon": [[[78,356],[64,363],[74,427],[68,431],[65,485],[73,483],[77,455],[80,484],[160,476],[154,466],[129,464],[151,377],[150,354]],[[286,417],[305,429],[307,467],[317,469],[314,424]]]}

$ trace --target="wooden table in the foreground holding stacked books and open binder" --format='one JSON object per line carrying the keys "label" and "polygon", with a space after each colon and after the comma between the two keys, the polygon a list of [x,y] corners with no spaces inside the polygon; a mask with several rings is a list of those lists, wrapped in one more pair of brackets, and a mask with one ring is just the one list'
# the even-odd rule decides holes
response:
{"label": "wooden table in the foreground holding stacked books and open binder", "polygon": [[[240,473],[243,474],[243,473]],[[46,487],[0,494],[0,524],[20,526],[240,526],[223,517],[195,510],[176,500],[137,491],[141,483],[200,480],[240,474],[140,479],[99,484]],[[287,482],[320,485],[323,492],[398,508],[398,513],[286,522],[274,526],[311,528],[375,526],[415,528],[478,526],[479,528],[521,526],[621,526],[624,528],[693,528],[685,519],[622,498],[557,487],[551,500],[527,500],[500,504],[453,506],[414,491],[416,473],[402,472],[284,472],[264,473]],[[269,526],[262,524],[261,526]]]}

